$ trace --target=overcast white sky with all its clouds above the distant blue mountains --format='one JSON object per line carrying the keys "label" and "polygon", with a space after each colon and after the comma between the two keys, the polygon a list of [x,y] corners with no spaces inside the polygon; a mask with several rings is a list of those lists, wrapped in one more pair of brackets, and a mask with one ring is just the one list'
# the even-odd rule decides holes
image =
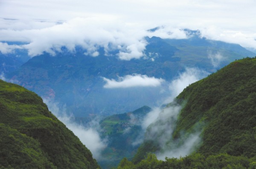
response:
{"label": "overcast white sky with all its clouds above the distant blue mountains", "polygon": [[[19,47],[31,56],[54,55],[53,48],[81,45],[97,56],[101,46],[119,49],[120,59],[138,59],[143,37],[184,38],[183,28],[256,49],[255,8],[256,0],[0,0],[0,41],[28,43],[0,43],[0,51]],[[163,28],[146,32],[157,26]]]}

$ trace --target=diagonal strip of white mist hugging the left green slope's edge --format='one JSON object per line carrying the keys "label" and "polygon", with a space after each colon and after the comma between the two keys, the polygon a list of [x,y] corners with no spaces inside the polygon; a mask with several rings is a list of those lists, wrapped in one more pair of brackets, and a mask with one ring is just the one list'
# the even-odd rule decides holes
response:
{"label": "diagonal strip of white mist hugging the left green slope's edge", "polygon": [[97,160],[102,158],[101,152],[107,146],[107,141],[105,139],[102,140],[95,127],[84,127],[81,124],[77,124],[72,120],[72,116],[67,115],[65,108],[60,108],[56,103],[52,103],[46,99],[44,99],[44,103],[47,104],[49,110],[63,122],[88,149],[90,149],[93,158]]}

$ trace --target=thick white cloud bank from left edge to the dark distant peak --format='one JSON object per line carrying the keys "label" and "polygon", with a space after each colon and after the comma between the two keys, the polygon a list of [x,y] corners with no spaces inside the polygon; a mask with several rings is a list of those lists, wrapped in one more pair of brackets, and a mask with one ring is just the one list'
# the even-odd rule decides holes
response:
{"label": "thick white cloud bank from left edge to the dark distant peak", "polygon": [[[112,25],[114,25],[112,27]],[[55,51],[66,47],[75,52],[77,45],[84,48],[86,55],[98,56],[99,48],[109,51],[118,50],[117,56],[122,60],[140,59],[147,45],[146,36],[162,38],[186,38],[186,34],[177,28],[163,27],[155,32],[146,31],[136,25],[128,25],[113,18],[76,17],[67,22],[40,29],[0,29],[0,41],[21,41],[25,45],[0,44],[3,54],[15,48],[28,50],[29,56],[47,52],[52,56]]]}

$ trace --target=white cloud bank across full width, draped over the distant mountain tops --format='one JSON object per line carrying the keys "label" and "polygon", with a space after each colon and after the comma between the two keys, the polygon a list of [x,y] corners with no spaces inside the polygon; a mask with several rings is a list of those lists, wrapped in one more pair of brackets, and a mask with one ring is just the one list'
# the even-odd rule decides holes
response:
{"label": "white cloud bank across full width, draped over the distant mountain tops", "polygon": [[[0,18],[3,24],[6,20]],[[9,21],[10,22],[10,21]],[[11,20],[12,24],[20,20]],[[38,21],[36,22],[38,23]],[[114,25],[114,26],[113,26]],[[15,49],[26,49],[29,56],[37,56],[47,52],[55,56],[56,51],[61,52],[66,47],[70,52],[76,52],[76,46],[82,47],[84,54],[96,57],[99,48],[104,48],[105,55],[111,51],[118,51],[116,56],[122,60],[146,58],[144,51],[148,42],[145,37],[160,37],[163,39],[186,39],[188,35],[184,28],[174,25],[160,26],[154,31],[154,25],[140,25],[125,23],[118,17],[94,16],[75,17],[62,23],[45,24],[35,28],[0,28],[0,42],[24,42],[22,45],[8,45],[0,43],[0,51],[3,54],[11,53]],[[221,40],[224,42],[239,43],[244,47],[256,48],[255,35],[246,35],[239,31],[225,31],[217,28],[191,28],[198,29],[201,37]]]}

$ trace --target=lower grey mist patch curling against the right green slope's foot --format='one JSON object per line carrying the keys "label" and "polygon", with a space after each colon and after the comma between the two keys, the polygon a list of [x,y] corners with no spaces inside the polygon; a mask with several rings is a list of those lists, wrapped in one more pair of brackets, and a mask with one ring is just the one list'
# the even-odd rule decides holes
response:
{"label": "lower grey mist patch curling against the right green slope's foot", "polygon": [[155,113],[158,114],[157,118],[147,128],[145,139],[156,141],[160,146],[160,151],[157,152],[157,158],[160,160],[164,160],[166,157],[184,157],[189,155],[200,144],[201,131],[195,131],[190,134],[181,133],[177,140],[172,138],[181,108],[175,101],[172,102],[169,107]]}

